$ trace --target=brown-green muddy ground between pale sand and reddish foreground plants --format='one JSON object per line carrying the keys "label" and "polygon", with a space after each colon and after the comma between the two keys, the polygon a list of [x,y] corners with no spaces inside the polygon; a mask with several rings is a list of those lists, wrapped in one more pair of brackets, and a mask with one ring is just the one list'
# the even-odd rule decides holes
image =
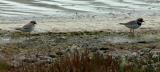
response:
{"label": "brown-green muddy ground between pale sand and reddish foreground plants", "polygon": [[134,55],[140,51],[159,53],[160,31],[23,33],[1,31],[0,59],[13,66],[21,62],[53,62],[75,49],[83,52]]}

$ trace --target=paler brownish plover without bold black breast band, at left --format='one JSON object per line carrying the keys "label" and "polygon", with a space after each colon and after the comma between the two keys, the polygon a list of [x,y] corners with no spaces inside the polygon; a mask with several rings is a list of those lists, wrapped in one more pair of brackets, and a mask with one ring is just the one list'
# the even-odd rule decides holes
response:
{"label": "paler brownish plover without bold black breast band, at left", "polygon": [[22,32],[31,32],[34,30],[35,24],[37,24],[36,21],[30,21],[28,24],[24,25],[23,27],[15,28],[15,29],[20,30]]}

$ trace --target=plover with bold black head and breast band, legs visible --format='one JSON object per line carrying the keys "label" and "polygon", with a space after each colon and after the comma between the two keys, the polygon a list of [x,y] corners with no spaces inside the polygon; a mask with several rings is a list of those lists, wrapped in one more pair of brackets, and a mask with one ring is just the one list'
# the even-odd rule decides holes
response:
{"label": "plover with bold black head and breast band, legs visible", "polygon": [[130,32],[134,33],[134,29],[139,28],[144,22],[143,18],[138,18],[137,20],[132,20],[127,23],[120,23],[121,25],[125,25],[127,28],[130,28]]}

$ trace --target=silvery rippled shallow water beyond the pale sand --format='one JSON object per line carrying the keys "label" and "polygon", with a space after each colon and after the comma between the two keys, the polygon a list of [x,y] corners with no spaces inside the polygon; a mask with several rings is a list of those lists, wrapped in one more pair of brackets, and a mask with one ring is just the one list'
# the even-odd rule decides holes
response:
{"label": "silvery rippled shallow water beyond the pale sand", "polygon": [[[146,11],[147,10],[147,11]],[[160,10],[160,0],[1,0],[0,16],[52,16]]]}

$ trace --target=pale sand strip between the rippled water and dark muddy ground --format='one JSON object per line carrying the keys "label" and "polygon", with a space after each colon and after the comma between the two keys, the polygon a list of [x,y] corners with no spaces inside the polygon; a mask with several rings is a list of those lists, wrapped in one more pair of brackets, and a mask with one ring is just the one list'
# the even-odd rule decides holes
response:
{"label": "pale sand strip between the rippled water and dark muddy ground", "polygon": [[[141,30],[159,30],[160,16],[140,16],[144,18],[145,23],[137,29]],[[37,26],[34,32],[74,32],[74,31],[113,31],[127,32],[129,29],[119,23],[135,20],[138,16],[116,16],[116,15],[71,15],[60,17],[33,17],[33,18],[17,18],[5,19],[0,22],[2,30],[14,31],[16,27],[22,27],[30,20],[36,20]],[[3,19],[2,19],[3,20]],[[10,20],[10,21],[9,21]]]}

